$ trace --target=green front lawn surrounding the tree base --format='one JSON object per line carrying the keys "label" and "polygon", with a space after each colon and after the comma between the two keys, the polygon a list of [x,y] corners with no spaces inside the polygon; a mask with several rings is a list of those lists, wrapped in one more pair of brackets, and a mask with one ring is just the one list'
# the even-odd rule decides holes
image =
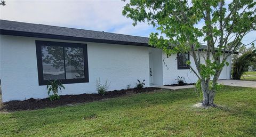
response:
{"label": "green front lawn surrounding the tree base", "polygon": [[225,86],[219,108],[194,89],[161,90],[32,111],[0,112],[0,136],[256,136],[256,89]]}

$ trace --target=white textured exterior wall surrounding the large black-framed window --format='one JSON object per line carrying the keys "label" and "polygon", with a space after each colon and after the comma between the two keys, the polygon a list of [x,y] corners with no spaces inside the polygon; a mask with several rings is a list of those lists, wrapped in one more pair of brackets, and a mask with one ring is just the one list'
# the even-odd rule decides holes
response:
{"label": "white textured exterior wall surrounding the large black-framed window", "polygon": [[111,82],[109,91],[126,85],[135,87],[137,79],[146,79],[149,86],[148,47],[61,41],[1,35],[0,74],[3,101],[47,98],[46,86],[38,85],[35,41],[86,43],[88,51],[89,83],[64,84],[64,94],[97,93],[96,78]]}

